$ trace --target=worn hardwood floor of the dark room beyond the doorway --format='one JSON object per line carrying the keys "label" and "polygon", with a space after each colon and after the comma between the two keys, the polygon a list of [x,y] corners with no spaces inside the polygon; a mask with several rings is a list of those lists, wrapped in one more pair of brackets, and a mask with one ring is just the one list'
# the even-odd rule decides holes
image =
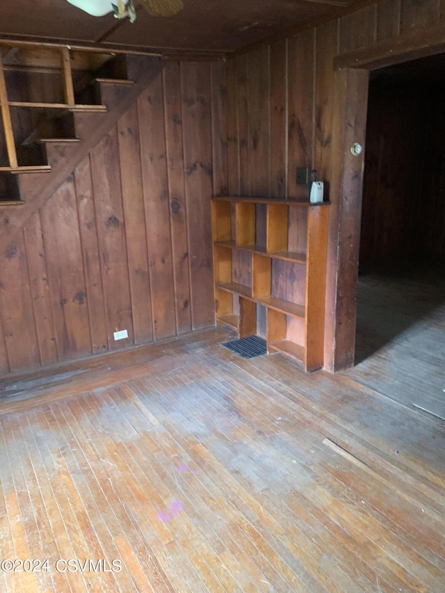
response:
{"label": "worn hardwood floor of the dark room beyond the doorway", "polygon": [[391,261],[359,278],[348,376],[445,421],[444,266]]}

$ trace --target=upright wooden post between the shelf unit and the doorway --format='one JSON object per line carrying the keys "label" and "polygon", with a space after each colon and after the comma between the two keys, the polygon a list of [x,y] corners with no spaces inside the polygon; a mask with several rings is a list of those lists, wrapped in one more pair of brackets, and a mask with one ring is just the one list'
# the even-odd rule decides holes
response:
{"label": "upright wooden post between the shelf unit and the doorway", "polygon": [[329,371],[354,364],[364,152],[353,156],[350,147],[364,146],[368,80],[367,70],[335,73],[324,365]]}

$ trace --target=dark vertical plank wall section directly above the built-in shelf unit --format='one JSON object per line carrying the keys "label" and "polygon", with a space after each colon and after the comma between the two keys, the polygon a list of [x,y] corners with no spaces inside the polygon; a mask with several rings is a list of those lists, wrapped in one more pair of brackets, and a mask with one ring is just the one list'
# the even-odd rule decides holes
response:
{"label": "dark vertical plank wall section directly above the built-in shelf unit", "polygon": [[315,43],[314,31],[307,31],[229,61],[230,194],[301,194],[296,167],[314,163]]}

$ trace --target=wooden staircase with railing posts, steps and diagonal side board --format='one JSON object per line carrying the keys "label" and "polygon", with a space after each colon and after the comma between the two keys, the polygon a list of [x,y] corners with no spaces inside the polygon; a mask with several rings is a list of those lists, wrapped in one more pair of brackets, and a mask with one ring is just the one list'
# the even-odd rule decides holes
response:
{"label": "wooden staircase with railing posts, steps and diagonal side board", "polygon": [[[0,166],[0,250],[63,184],[163,67],[159,58],[120,54],[74,89],[67,51],[62,51],[65,102],[8,101],[0,60],[0,103],[8,152]],[[115,77],[118,74],[119,78]],[[10,109],[44,110],[35,129],[17,147]]]}

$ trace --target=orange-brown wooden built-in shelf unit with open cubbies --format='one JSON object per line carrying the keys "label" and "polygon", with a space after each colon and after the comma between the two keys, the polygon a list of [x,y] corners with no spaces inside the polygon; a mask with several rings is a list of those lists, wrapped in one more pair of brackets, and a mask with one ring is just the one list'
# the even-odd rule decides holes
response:
{"label": "orange-brown wooden built-in shelf unit with open cubbies", "polygon": [[216,323],[257,334],[266,312],[268,352],[323,366],[328,202],[214,197]]}

